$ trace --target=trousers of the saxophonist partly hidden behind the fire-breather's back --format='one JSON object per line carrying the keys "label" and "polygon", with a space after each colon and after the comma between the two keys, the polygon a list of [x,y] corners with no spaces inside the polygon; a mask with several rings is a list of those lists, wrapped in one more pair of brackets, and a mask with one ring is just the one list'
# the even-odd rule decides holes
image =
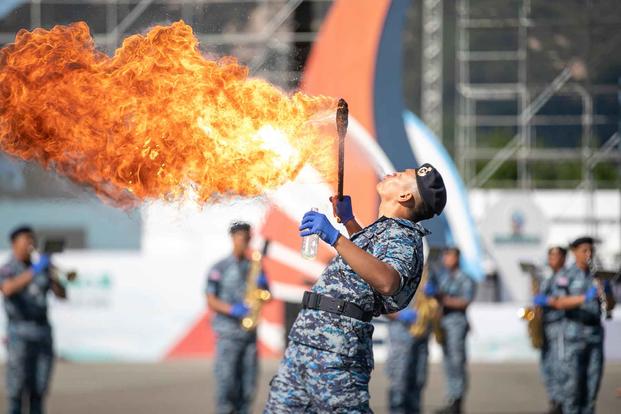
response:
{"label": "trousers of the saxophonist partly hidden behind the fire-breather's back", "polygon": [[431,327],[428,327],[421,337],[414,337],[410,325],[398,320],[389,322],[386,373],[390,382],[388,403],[391,414],[418,414],[422,411],[430,331]]}

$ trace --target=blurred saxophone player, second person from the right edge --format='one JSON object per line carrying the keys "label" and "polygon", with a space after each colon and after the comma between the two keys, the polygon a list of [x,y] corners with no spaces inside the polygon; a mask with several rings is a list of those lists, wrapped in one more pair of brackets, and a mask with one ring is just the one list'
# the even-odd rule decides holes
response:
{"label": "blurred saxophone player, second person from the right edge", "polygon": [[550,400],[549,414],[561,414],[563,398],[563,317],[562,310],[548,306],[549,297],[568,294],[569,280],[565,259],[567,249],[553,246],[548,249],[548,271],[543,275],[539,293],[534,298],[535,306],[543,309],[543,346],[541,347],[541,374]]}

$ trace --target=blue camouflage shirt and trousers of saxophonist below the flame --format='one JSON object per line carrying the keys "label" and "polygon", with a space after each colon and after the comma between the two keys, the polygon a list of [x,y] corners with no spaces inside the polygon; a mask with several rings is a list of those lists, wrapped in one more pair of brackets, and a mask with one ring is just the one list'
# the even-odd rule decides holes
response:
{"label": "blue camouflage shirt and trousers of saxophonist below the flame", "polygon": [[[238,260],[231,255],[221,260],[207,275],[207,293],[230,304],[243,302],[249,268],[247,259]],[[219,313],[212,326],[217,335],[217,413],[249,413],[258,370],[256,331],[246,331],[239,319]]]}

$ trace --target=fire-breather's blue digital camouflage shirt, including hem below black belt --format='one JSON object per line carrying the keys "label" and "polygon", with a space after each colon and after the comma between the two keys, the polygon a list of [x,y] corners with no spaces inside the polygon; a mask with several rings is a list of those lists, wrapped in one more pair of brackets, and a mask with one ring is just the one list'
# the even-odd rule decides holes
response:
{"label": "fire-breather's blue digital camouflage shirt, including hem below black belt", "polygon": [[[405,308],[420,282],[423,266],[422,238],[428,232],[409,220],[382,217],[352,235],[351,241],[384,263],[401,277],[401,287],[392,296],[371,288],[341,256],[323,271],[312,291],[353,302],[376,316]],[[373,325],[324,311],[303,309],[289,334],[291,341],[348,357],[362,357],[373,364]]]}

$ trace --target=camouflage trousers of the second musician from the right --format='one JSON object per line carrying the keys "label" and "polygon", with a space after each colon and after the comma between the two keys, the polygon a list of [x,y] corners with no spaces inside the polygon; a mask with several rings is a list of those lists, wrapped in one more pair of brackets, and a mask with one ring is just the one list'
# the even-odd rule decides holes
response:
{"label": "camouflage trousers of the second musician from the right", "polygon": [[541,348],[541,376],[550,401],[560,403],[563,397],[564,377],[563,324],[559,322],[544,325],[544,342]]}

